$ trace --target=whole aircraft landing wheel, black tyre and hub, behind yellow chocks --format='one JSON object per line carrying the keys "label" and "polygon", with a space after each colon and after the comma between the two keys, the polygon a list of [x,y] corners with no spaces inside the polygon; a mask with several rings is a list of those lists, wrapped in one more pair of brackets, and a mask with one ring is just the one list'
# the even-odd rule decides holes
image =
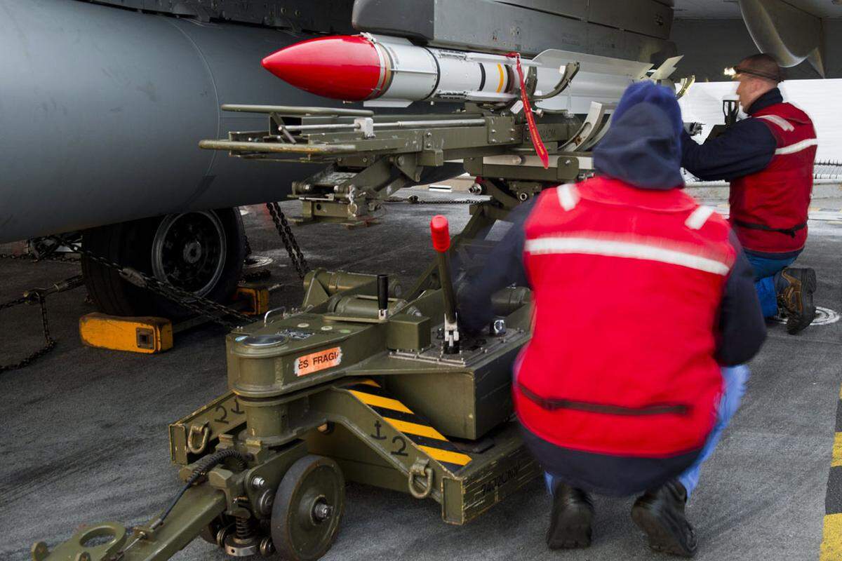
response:
{"label": "whole aircraft landing wheel, black tyre and hub, behind yellow chocks", "polygon": [[[237,288],[245,259],[239,210],[167,214],[83,232],[95,254],[205,298],[226,302]],[[128,283],[110,267],[82,259],[88,294],[110,315],[161,315],[181,319],[184,307]]]}

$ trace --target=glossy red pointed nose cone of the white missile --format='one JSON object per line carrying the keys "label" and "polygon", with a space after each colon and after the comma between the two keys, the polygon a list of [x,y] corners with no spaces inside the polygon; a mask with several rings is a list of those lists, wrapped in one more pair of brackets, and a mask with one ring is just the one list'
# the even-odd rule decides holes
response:
{"label": "glossy red pointed nose cone of the white missile", "polygon": [[306,92],[348,101],[369,98],[381,77],[375,46],[359,35],[302,41],[267,56],[263,65]]}

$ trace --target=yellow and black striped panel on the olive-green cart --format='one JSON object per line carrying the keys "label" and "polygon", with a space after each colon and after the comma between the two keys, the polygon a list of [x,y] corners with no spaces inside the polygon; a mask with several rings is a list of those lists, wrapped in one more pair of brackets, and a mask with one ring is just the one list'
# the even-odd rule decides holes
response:
{"label": "yellow and black striped panel on the olive-green cart", "polygon": [[461,453],[445,435],[436,431],[429,421],[413,413],[406,405],[386,394],[374,380],[347,386],[358,400],[368,405],[391,425],[401,431],[422,452],[440,463],[451,474],[455,474],[471,462],[471,457]]}

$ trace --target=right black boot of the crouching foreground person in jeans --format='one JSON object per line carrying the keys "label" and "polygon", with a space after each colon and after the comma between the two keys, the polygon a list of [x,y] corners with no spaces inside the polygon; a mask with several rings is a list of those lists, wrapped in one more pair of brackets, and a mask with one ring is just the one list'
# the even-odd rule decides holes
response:
{"label": "right black boot of the crouching foreground person in jeans", "polygon": [[649,540],[649,548],[661,553],[693,557],[695,531],[685,517],[687,491],[678,481],[647,491],[632,506],[632,521]]}

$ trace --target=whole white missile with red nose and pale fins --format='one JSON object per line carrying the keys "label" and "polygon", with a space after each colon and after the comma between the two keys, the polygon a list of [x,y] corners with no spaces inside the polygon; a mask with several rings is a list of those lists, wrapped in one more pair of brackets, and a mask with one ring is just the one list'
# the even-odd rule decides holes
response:
{"label": "whole white missile with red nose and pale fins", "polygon": [[[591,102],[616,103],[652,65],[566,50],[545,50],[523,59],[536,69],[536,96],[551,93],[570,62],[579,71],[569,87],[536,103],[539,108],[588,113]],[[510,56],[413,45],[375,34],[306,40],[264,58],[263,66],[291,85],[326,98],[367,106],[406,107],[416,101],[508,103],[520,98]]]}

